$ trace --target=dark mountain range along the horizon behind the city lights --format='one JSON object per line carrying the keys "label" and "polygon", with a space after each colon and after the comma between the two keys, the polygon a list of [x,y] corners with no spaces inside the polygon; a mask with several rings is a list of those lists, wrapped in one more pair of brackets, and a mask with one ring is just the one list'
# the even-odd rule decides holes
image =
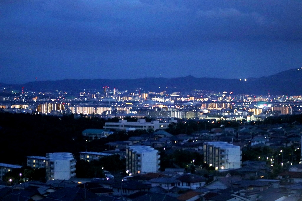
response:
{"label": "dark mountain range along the horizon behind the city lights", "polygon": [[140,78],[140,79],[82,79],[36,81],[22,85],[0,84],[0,86],[13,86],[14,89],[41,91],[41,90],[79,90],[97,89],[103,86],[114,87],[118,90],[136,90],[153,92],[184,92],[191,90],[205,90],[215,92],[233,92],[234,94],[265,95],[270,90],[271,95],[300,95],[302,94],[302,68],[283,71],[268,77],[239,79],[196,78],[193,76],[177,78]]}

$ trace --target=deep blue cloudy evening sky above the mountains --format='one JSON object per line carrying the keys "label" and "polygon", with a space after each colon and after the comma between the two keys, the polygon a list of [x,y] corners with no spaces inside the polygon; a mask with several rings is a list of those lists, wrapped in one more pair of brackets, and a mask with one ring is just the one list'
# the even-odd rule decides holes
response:
{"label": "deep blue cloudy evening sky above the mountains", "polygon": [[1,0],[0,83],[302,67],[298,0]]}

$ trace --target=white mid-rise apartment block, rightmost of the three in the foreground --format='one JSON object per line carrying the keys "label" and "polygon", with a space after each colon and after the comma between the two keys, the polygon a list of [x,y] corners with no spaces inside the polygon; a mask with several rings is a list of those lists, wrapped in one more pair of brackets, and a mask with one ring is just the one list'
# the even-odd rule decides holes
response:
{"label": "white mid-rise apartment block, rightmost of the three in the foreground", "polygon": [[216,170],[241,168],[240,146],[227,142],[205,142],[204,162]]}

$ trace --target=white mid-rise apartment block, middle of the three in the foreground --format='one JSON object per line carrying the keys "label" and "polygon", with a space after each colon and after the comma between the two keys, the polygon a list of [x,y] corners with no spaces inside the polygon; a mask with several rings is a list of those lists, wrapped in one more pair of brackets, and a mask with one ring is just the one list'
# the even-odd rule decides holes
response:
{"label": "white mid-rise apartment block, middle of the three in the foreground", "polygon": [[128,174],[158,172],[159,164],[159,152],[150,146],[138,145],[126,148],[126,170]]}

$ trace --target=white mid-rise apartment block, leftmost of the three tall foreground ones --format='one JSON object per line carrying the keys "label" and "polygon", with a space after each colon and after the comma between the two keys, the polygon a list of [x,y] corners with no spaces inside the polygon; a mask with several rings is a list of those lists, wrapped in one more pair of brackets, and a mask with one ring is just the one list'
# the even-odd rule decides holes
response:
{"label": "white mid-rise apartment block, leftmost of the three tall foreground ones", "polygon": [[46,154],[46,181],[69,180],[76,176],[76,159],[72,153],[56,152]]}

